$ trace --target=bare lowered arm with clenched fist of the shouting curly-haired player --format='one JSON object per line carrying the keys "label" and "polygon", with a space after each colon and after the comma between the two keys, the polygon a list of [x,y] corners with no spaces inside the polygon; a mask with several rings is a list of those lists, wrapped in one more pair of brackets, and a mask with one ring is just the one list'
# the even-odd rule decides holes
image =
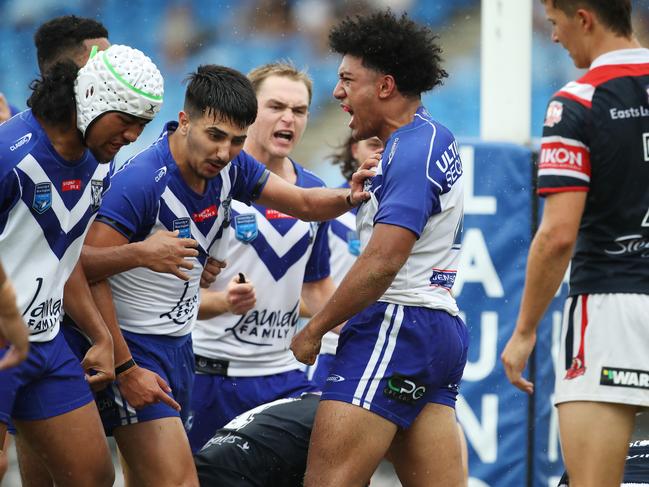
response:
{"label": "bare lowered arm with clenched fist of the shouting curly-haired player", "polygon": [[410,230],[378,223],[325,307],[293,338],[291,350],[302,363],[313,364],[326,332],[379,299],[408,260],[416,236]]}

